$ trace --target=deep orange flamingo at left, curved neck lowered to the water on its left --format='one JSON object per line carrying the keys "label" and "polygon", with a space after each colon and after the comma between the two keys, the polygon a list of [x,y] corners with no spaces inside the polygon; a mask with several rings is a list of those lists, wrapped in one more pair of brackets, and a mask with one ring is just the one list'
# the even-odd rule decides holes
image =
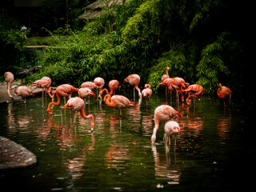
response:
{"label": "deep orange flamingo at left, curved neck lowered to the water on its left", "polygon": [[[49,114],[53,114],[50,111],[50,106],[54,105],[54,106],[58,106],[58,104],[61,102],[61,96],[64,97],[64,102],[66,104],[66,96],[68,96],[69,98],[71,98],[71,94],[74,91],[79,91],[77,88],[74,88],[74,86],[70,86],[69,84],[63,84],[61,86],[58,86],[56,88],[56,90],[53,91],[53,94],[56,94],[58,101],[57,102],[50,102],[47,108],[47,112]],[[54,100],[54,98],[52,99]]]}

